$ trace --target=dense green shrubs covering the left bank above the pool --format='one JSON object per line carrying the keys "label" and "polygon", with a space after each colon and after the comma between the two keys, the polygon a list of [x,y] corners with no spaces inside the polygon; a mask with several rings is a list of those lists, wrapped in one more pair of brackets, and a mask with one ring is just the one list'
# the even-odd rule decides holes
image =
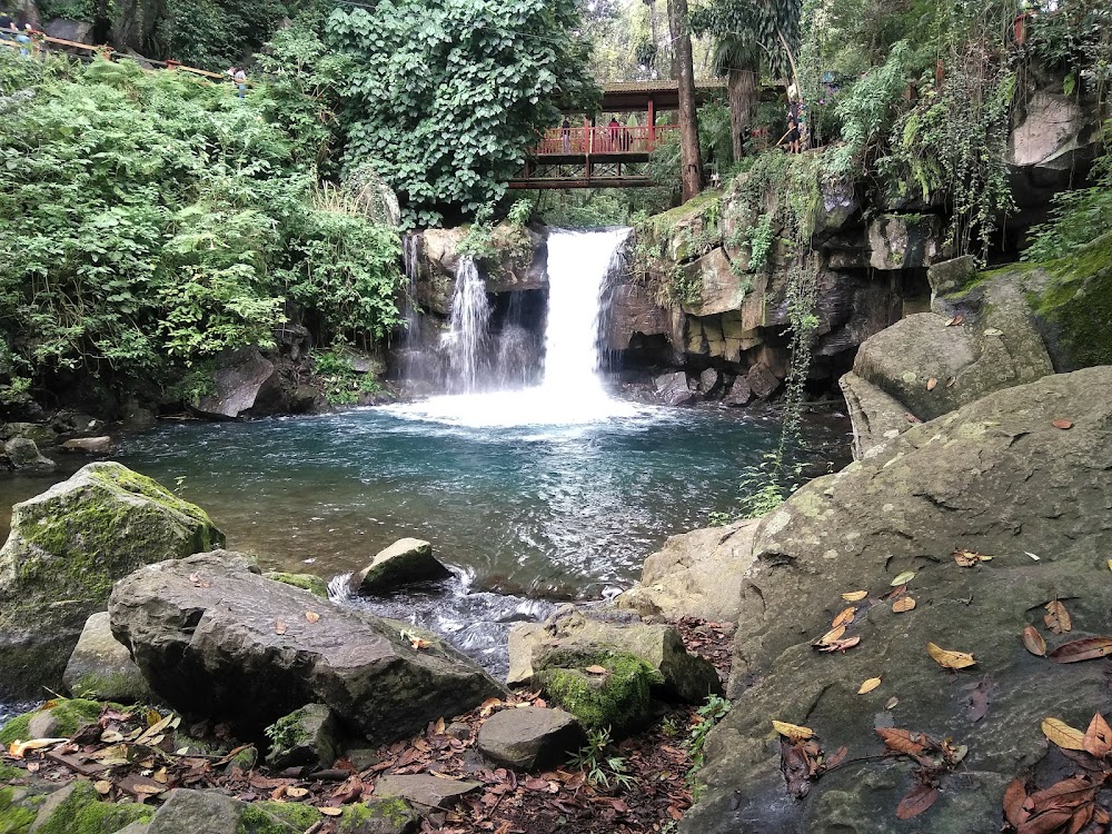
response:
{"label": "dense green shrubs covering the left bank above the pool", "polygon": [[321,189],[266,89],[3,52],[0,93],[8,399],[64,370],[170,381],[290,318],[324,344],[397,322],[397,231]]}

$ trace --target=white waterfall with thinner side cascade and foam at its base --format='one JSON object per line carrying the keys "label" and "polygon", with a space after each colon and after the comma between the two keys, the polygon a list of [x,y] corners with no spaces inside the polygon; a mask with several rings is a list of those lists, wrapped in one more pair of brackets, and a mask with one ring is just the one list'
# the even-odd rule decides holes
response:
{"label": "white waterfall with thinner side cascade and foam at its base", "polygon": [[465,396],[434,397],[391,410],[476,427],[586,424],[637,414],[636,406],[608,397],[598,376],[606,284],[628,236],[628,229],[549,235],[544,376],[539,386],[518,390],[484,391],[513,380],[506,373],[507,356],[515,351],[520,334],[506,328],[492,350],[486,287],[475,264],[461,258],[444,346],[450,387]]}

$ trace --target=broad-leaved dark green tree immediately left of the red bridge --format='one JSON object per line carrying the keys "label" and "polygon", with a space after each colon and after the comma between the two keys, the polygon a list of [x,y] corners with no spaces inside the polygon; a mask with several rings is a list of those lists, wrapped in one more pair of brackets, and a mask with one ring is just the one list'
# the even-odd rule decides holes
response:
{"label": "broad-leaved dark green tree immediately left of the red bridge", "polygon": [[347,166],[369,163],[405,221],[474,217],[500,199],[559,106],[592,109],[578,0],[380,0],[328,17],[350,58]]}

